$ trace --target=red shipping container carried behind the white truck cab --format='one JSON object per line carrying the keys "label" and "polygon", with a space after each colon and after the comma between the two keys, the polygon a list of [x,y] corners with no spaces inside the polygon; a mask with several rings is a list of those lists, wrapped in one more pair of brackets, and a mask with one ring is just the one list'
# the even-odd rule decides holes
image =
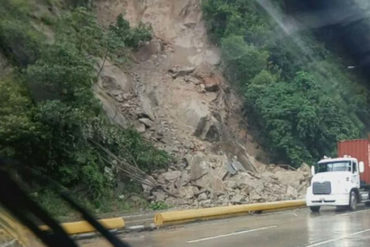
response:
{"label": "red shipping container carried behind the white truck cab", "polygon": [[366,139],[349,140],[338,142],[338,157],[350,155],[359,162],[363,161],[364,173],[360,174],[361,183],[370,185],[370,143]]}

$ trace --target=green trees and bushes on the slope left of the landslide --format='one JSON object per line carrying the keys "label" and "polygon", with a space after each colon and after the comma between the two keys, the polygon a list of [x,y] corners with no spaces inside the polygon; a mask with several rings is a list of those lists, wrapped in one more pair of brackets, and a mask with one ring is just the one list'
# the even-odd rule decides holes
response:
{"label": "green trees and bushes on the slope left of the landslide", "polygon": [[[121,63],[151,39],[150,28],[132,29],[119,16],[105,30],[78,7],[48,22],[51,41],[32,25],[32,1],[0,1],[0,51],[14,66],[0,77],[0,156],[47,174],[97,208],[102,198],[117,198],[111,179],[117,171],[99,145],[146,172],[170,162],[136,131],[112,124],[92,91],[97,58]],[[47,191],[39,196],[46,206],[54,200]]]}

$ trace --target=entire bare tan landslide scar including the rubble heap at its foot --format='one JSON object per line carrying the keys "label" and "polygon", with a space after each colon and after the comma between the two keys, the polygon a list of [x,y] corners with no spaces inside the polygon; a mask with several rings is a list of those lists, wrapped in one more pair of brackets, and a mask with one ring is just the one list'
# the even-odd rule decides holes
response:
{"label": "entire bare tan landslide scar including the rubble heap at its foot", "polygon": [[194,207],[303,196],[307,166],[287,171],[255,159],[266,155],[248,133],[239,96],[218,69],[219,50],[207,39],[200,0],[96,5],[103,25],[125,13],[131,25],[153,28],[153,40],[136,52],[130,68],[106,63],[95,89],[113,121],[134,126],[177,158],[153,175],[172,196],[144,186],[150,200]]}

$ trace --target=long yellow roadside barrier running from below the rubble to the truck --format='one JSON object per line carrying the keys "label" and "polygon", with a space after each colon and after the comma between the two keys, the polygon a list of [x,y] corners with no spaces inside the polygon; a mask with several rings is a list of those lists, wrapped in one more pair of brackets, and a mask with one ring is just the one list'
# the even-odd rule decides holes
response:
{"label": "long yellow roadside barrier running from below the rubble to the truck", "polygon": [[266,202],[215,208],[170,211],[156,214],[154,216],[154,223],[156,226],[163,226],[167,224],[176,224],[195,220],[206,220],[227,216],[235,216],[253,211],[296,208],[305,205],[306,201],[304,200],[293,200],[293,201]]}

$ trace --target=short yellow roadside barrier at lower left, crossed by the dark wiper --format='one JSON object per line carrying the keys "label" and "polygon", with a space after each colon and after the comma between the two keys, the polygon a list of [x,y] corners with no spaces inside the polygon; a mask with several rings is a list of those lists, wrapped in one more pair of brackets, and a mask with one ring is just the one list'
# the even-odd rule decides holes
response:
{"label": "short yellow roadside barrier at lower left, crossed by the dark wiper", "polygon": [[[125,221],[121,217],[101,219],[98,221],[107,229],[117,229],[125,227]],[[95,228],[91,226],[87,221],[62,223],[61,226],[68,234],[80,234],[95,231]],[[49,227],[42,225],[40,226],[40,229],[46,231],[49,229]]]}

